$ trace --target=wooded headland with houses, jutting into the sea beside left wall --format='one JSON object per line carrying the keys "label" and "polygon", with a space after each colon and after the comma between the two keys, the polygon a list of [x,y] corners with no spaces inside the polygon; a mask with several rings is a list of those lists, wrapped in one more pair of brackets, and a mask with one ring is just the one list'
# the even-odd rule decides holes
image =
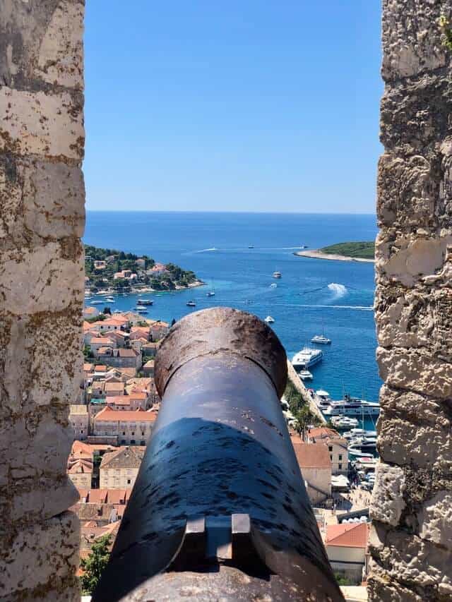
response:
{"label": "wooded headland with houses, jutting into the sea beside left wall", "polygon": [[148,255],[85,245],[85,289],[97,291],[173,291],[204,284],[194,272]]}

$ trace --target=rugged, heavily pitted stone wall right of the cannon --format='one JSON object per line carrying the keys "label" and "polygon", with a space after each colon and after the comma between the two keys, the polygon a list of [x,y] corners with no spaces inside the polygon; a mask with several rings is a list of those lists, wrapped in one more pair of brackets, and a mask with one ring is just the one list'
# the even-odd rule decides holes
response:
{"label": "rugged, heavily pitted stone wall right of the cannon", "polygon": [[369,599],[452,599],[451,0],[383,0]]}

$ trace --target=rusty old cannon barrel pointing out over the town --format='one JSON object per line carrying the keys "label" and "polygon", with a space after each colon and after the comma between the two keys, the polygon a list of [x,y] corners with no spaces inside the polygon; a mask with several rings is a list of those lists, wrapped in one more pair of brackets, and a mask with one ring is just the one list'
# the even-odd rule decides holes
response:
{"label": "rusty old cannon barrel pointing out over the town", "polygon": [[172,327],[162,404],[93,602],[340,601],[280,407],[273,330],[230,308]]}

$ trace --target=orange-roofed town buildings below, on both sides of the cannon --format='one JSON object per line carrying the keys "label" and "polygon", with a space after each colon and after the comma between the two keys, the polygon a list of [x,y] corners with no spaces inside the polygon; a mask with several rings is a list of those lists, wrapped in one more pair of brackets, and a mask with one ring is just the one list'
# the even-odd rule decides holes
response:
{"label": "orange-roofed town buildings below, on both sides of the cannon", "polygon": [[[70,407],[67,464],[80,495],[71,510],[81,520],[82,562],[106,537],[111,548],[119,529],[157,419],[154,361],[169,331],[168,323],[129,311],[109,315],[86,306],[84,316],[83,383]],[[281,407],[328,558],[340,584],[360,585],[368,566],[370,488],[350,463],[347,439],[319,421],[309,391],[288,368]],[[301,414],[292,414],[295,407]]]}

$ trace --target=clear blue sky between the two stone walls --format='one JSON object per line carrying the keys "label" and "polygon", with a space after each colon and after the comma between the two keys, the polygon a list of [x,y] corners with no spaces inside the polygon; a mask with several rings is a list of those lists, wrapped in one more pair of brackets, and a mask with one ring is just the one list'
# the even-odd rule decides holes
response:
{"label": "clear blue sky between the two stone walls", "polygon": [[378,0],[87,2],[88,210],[374,212],[380,61]]}

